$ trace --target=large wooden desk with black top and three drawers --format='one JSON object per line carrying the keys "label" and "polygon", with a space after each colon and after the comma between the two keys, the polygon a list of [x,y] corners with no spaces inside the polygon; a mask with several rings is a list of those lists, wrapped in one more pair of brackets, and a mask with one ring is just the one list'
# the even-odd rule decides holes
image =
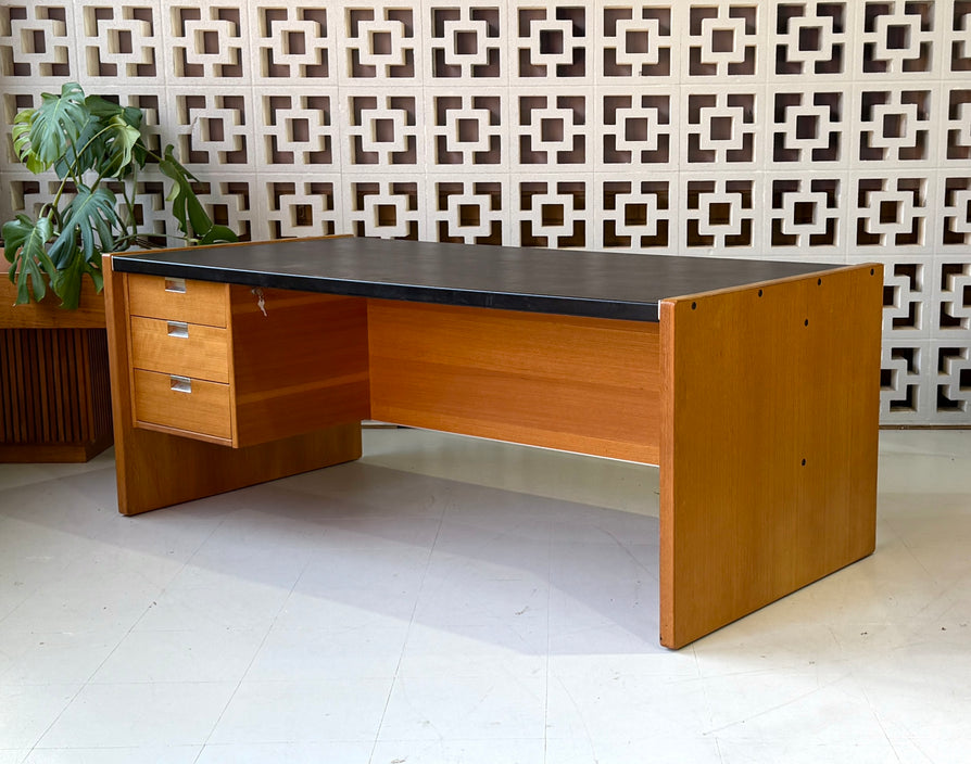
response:
{"label": "large wooden desk with black top and three drawers", "polygon": [[879,265],[352,238],[106,257],[119,509],[355,459],[363,419],[656,463],[679,648],[873,551],[882,291]]}

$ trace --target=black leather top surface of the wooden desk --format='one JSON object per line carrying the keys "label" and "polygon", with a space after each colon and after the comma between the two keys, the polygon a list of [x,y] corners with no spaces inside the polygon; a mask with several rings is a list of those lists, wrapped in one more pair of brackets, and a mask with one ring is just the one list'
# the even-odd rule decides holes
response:
{"label": "black leather top surface of the wooden desk", "polygon": [[113,263],[129,273],[638,321],[657,321],[665,297],[842,267],[358,238],[150,250]]}

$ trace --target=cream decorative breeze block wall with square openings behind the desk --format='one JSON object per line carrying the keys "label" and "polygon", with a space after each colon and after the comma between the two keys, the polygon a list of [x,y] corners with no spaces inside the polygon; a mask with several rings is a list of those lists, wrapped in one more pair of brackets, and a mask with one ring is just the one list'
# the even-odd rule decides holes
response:
{"label": "cream decorative breeze block wall with square openings behind the desk", "polygon": [[253,239],[880,260],[882,421],[971,424],[971,0],[5,0],[0,77],[142,107]]}

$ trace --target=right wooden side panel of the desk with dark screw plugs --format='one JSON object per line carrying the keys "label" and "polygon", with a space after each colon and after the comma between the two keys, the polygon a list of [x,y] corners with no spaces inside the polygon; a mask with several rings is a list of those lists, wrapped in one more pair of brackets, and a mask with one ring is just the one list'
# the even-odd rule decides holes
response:
{"label": "right wooden side panel of the desk with dark screw plugs", "polygon": [[873,551],[882,272],[661,305],[661,644]]}

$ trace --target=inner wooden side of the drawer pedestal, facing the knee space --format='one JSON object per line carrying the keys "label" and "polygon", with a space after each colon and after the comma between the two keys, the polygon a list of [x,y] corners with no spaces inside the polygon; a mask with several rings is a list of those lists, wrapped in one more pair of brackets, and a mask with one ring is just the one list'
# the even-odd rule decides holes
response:
{"label": "inner wooden side of the drawer pedestal, facing the knee space", "polygon": [[238,445],[370,418],[364,300],[234,285],[231,305]]}

